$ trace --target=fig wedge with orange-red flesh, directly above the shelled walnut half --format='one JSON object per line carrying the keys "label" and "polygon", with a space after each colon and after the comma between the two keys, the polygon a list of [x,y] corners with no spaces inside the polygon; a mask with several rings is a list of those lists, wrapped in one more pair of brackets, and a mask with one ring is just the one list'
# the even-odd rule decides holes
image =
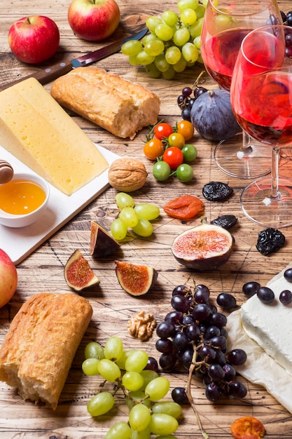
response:
{"label": "fig wedge with orange-red flesh, directly above the shelled walnut half", "polygon": [[150,266],[115,262],[118,282],[123,290],[132,296],[146,294],[157,281],[158,272]]}

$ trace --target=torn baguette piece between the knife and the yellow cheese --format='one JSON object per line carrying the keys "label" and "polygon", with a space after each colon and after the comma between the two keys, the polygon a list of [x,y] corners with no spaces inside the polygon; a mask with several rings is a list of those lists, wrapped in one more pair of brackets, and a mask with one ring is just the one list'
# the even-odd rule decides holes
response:
{"label": "torn baguette piece between the knife and the yellow cheese", "polygon": [[61,76],[50,93],[63,107],[118,137],[133,139],[158,121],[160,99],[155,93],[97,67],[78,67]]}

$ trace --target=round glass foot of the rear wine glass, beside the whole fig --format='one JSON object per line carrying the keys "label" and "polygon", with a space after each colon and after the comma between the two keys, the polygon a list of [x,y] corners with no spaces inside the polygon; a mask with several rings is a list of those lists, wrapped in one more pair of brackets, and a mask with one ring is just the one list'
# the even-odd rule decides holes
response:
{"label": "round glass foot of the rear wine glass, beside the whole fig", "polygon": [[248,154],[242,148],[242,133],[232,139],[222,140],[215,149],[215,162],[223,173],[237,178],[258,178],[270,173],[270,147],[253,141]]}

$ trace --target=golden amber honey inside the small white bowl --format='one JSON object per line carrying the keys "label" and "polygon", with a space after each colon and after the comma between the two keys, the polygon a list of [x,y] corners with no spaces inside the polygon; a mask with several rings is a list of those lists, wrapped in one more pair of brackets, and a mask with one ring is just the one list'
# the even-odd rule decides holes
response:
{"label": "golden amber honey inside the small white bowl", "polygon": [[25,215],[38,209],[46,192],[32,180],[11,180],[0,186],[0,209],[13,215]]}

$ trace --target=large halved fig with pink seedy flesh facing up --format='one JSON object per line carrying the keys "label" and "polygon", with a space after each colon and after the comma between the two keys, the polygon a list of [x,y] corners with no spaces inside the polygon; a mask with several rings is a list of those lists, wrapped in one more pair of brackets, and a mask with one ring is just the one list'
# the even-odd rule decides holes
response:
{"label": "large halved fig with pink seedy flesh facing up", "polygon": [[190,269],[211,271],[228,261],[233,245],[234,238],[228,230],[213,224],[200,224],[176,236],[172,254]]}

